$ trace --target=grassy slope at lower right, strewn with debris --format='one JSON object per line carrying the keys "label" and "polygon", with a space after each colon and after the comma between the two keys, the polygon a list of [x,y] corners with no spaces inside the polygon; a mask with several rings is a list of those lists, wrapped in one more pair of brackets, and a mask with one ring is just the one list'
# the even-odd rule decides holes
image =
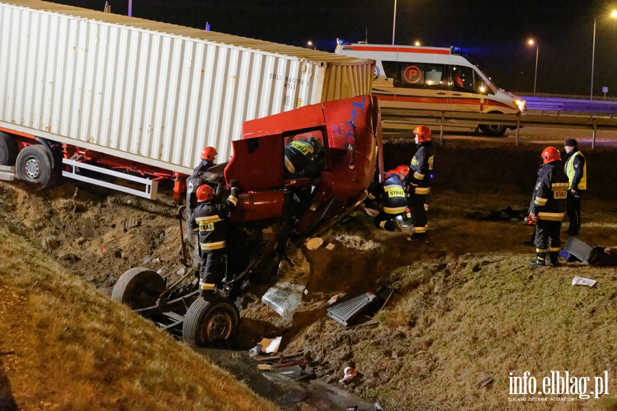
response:
{"label": "grassy slope at lower right, strewn with debris", "polygon": [[[571,286],[574,275],[598,284]],[[389,280],[400,295],[377,314],[376,328],[324,319],[306,331],[302,347],[333,370],[353,364],[361,373],[355,390],[386,409],[507,410],[521,406],[509,397],[527,397],[522,407],[544,397],[533,410],[617,410],[613,268],[531,269],[529,256],[467,255],[402,267]],[[330,353],[311,349],[317,335],[331,340]],[[590,377],[587,394],[607,371],[609,395],[509,395],[509,373],[525,371],[537,390],[551,371]],[[487,376],[494,382],[476,388]]]}

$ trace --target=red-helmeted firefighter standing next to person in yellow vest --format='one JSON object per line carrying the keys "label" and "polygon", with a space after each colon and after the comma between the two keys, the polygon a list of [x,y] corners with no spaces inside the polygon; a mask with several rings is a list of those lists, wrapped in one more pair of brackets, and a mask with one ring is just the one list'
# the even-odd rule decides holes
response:
{"label": "red-helmeted firefighter standing next to person in yellow vest", "polygon": [[553,266],[557,266],[561,250],[559,232],[566,208],[568,177],[561,166],[559,150],[555,147],[546,147],[542,151],[542,162],[544,165],[537,172],[537,182],[529,205],[528,219],[536,223],[536,258],[531,261],[531,265],[544,266],[548,251]]}

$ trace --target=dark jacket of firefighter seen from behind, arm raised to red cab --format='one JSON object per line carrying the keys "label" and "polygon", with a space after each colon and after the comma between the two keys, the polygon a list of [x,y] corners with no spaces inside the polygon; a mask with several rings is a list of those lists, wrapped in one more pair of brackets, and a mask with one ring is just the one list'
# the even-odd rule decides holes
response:
{"label": "dark jacket of firefighter seen from behind, arm raised to red cab", "polygon": [[232,188],[231,194],[222,203],[213,200],[203,201],[193,212],[193,221],[199,232],[199,248],[212,251],[225,248],[227,237],[225,218],[238,203],[238,188]]}

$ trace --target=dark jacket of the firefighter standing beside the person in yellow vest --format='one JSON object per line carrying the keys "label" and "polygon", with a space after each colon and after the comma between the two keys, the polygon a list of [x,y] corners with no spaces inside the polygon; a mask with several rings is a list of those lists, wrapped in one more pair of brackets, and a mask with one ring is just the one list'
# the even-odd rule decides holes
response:
{"label": "dark jacket of the firefighter standing beside the person in yellow vest", "polygon": [[538,220],[561,221],[564,219],[567,196],[568,177],[560,162],[544,164],[537,171],[529,212],[537,215]]}

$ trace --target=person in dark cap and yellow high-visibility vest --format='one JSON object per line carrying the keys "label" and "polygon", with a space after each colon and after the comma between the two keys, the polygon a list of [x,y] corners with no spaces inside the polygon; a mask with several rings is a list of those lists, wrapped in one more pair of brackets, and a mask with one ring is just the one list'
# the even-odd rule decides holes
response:
{"label": "person in dark cap and yellow high-visibility vest", "polygon": [[566,213],[570,220],[569,236],[578,236],[581,231],[581,197],[587,190],[587,162],[577,145],[577,140],[574,138],[566,140],[568,160],[566,160],[565,171],[569,181]]}

